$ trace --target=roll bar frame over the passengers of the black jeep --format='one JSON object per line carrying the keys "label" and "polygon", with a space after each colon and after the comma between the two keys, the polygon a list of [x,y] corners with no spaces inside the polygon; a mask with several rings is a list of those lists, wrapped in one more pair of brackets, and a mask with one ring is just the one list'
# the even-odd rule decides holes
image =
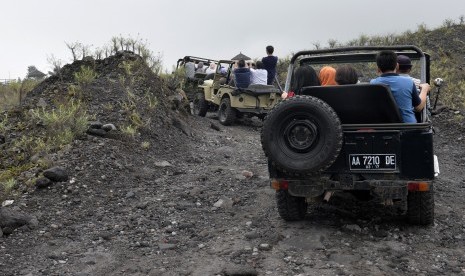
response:
{"label": "roll bar frame over the passengers of the black jeep", "polygon": [[[376,61],[375,60],[376,53],[381,50],[392,50],[398,53],[405,54],[413,59],[419,59],[420,68],[421,68],[420,80],[422,83],[427,82],[429,80],[429,72],[427,72],[428,67],[427,67],[426,55],[417,46],[414,46],[414,45],[354,46],[354,47],[341,47],[341,48],[320,49],[320,50],[305,50],[305,51],[299,51],[295,53],[292,56],[291,61],[289,63],[284,91],[289,91],[290,89],[292,74],[294,72],[294,67],[295,67],[294,64],[299,58],[306,59],[307,61],[310,61],[310,60],[315,61],[314,62],[315,64],[335,63],[337,61],[341,61],[341,62],[373,61],[374,62]],[[366,51],[370,51],[370,52],[367,53]],[[315,58],[312,56],[318,56],[318,58]]]}

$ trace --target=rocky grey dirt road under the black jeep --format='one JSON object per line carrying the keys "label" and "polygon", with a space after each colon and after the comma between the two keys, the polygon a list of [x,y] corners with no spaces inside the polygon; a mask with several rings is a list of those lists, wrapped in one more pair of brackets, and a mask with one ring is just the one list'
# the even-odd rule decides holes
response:
{"label": "rocky grey dirt road under the black jeep", "polygon": [[76,141],[61,158],[71,181],[8,207],[39,225],[0,238],[0,274],[463,275],[463,117],[434,120],[441,174],[431,227],[345,195],[283,221],[255,119],[217,131],[212,114],[190,118],[190,136],[178,131],[148,150]]}

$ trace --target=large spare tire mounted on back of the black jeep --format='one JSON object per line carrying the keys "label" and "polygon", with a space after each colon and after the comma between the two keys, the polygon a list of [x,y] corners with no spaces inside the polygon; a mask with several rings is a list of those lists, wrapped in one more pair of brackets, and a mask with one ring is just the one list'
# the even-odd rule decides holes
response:
{"label": "large spare tire mounted on back of the black jeep", "polygon": [[292,97],[268,113],[261,142],[278,170],[297,175],[319,173],[331,166],[341,151],[341,121],[319,98]]}

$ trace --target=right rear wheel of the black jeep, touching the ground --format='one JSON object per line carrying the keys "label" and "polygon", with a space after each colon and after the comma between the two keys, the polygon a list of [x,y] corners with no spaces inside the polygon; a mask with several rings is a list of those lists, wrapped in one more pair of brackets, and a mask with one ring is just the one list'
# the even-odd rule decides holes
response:
{"label": "right rear wheel of the black jeep, touching the ground", "polygon": [[426,192],[409,192],[407,196],[407,216],[411,224],[429,225],[434,222],[433,186]]}

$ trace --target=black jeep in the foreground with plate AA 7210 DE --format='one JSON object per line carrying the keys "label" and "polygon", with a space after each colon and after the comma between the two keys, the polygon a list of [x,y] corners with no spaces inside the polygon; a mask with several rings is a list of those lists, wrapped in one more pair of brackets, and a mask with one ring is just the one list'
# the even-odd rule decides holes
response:
{"label": "black jeep in the foreground with plate AA 7210 DE", "polygon": [[292,57],[285,91],[297,66],[318,71],[350,64],[360,83],[304,87],[268,113],[261,141],[283,219],[303,219],[307,202],[345,191],[384,204],[406,202],[411,223],[433,223],[439,166],[432,124],[426,108],[416,114],[418,123],[403,123],[389,87],[369,84],[380,50],[410,57],[421,82],[429,82],[429,55],[415,46],[301,51]]}

